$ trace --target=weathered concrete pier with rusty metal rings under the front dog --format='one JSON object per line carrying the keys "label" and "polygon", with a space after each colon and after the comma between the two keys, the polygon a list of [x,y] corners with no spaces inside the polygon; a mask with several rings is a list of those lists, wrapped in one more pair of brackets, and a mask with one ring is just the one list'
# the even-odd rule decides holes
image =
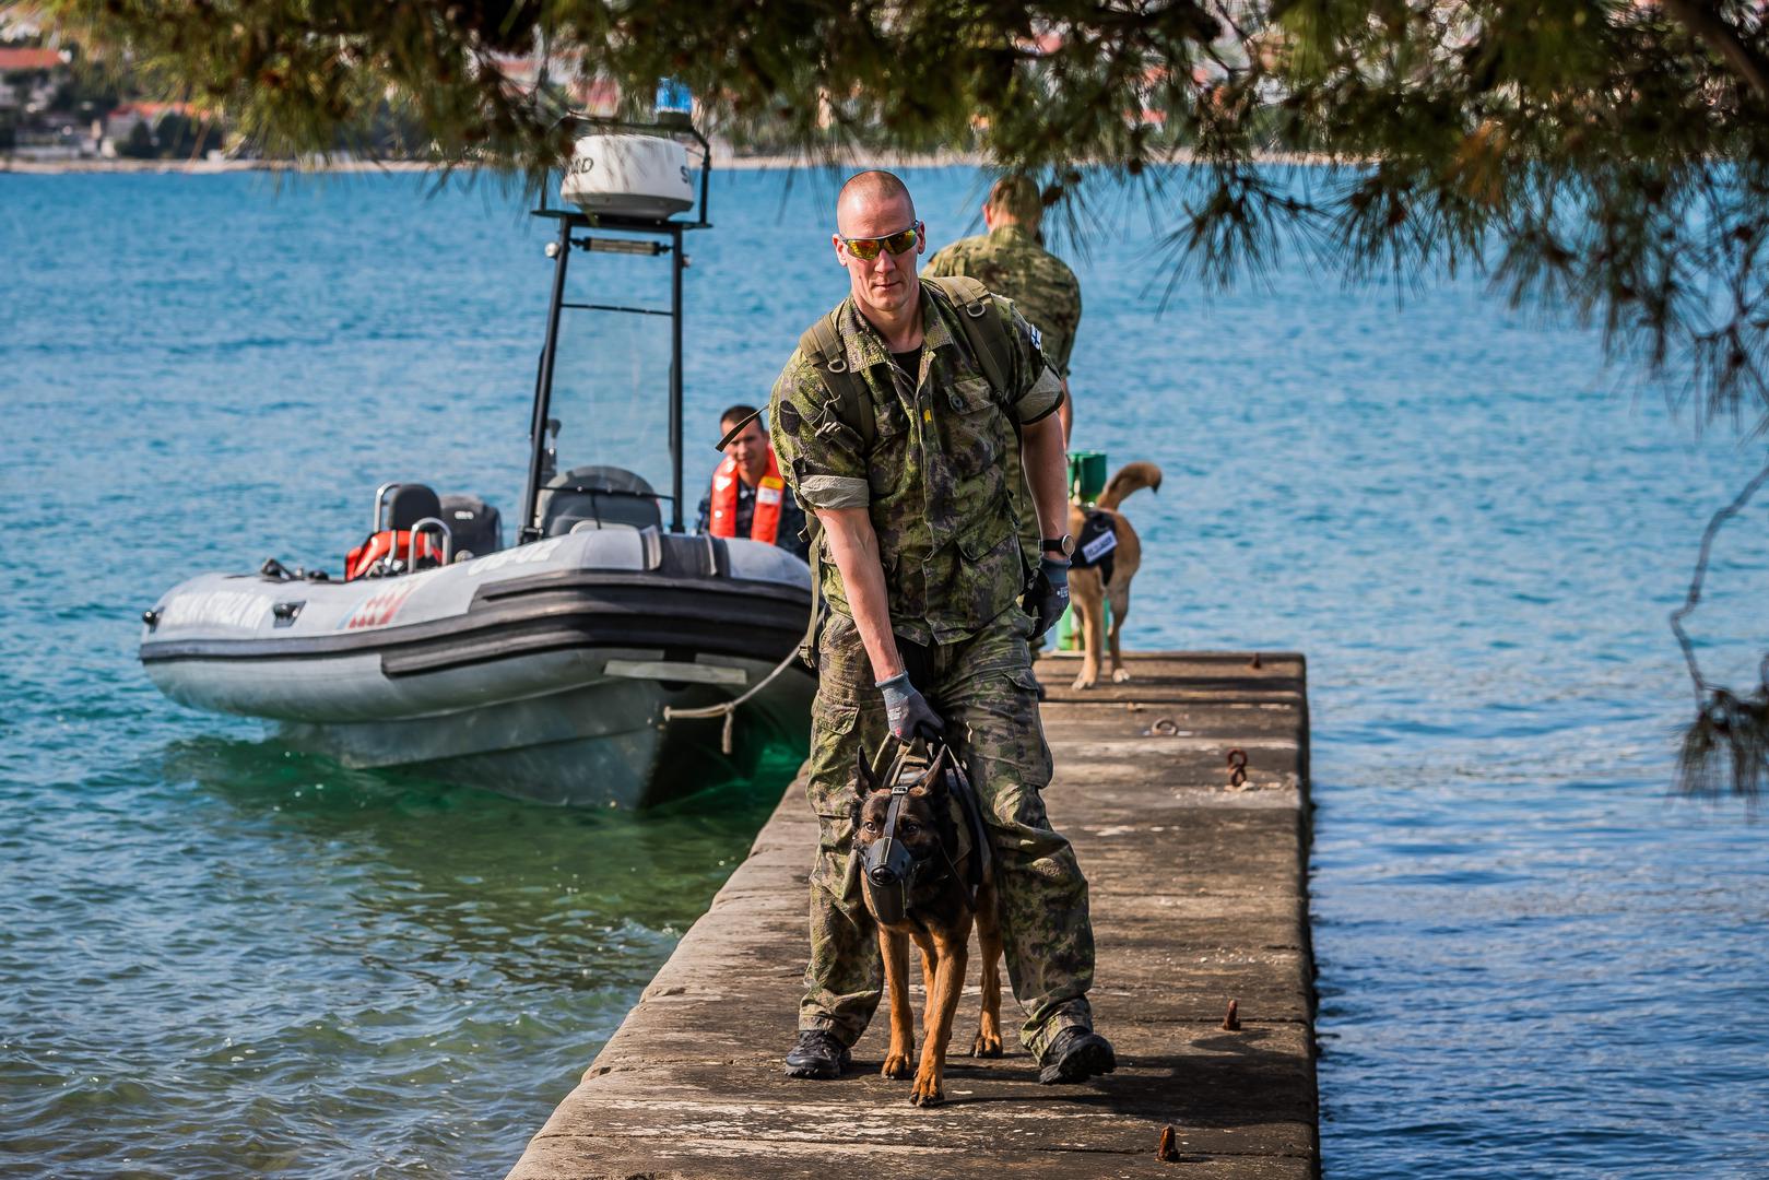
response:
{"label": "weathered concrete pier with rusty metal rings under the front dog", "polygon": [[[907,1081],[877,1076],[883,1007],[846,1077],[787,1079],[816,844],[794,784],[511,1180],[1316,1175],[1304,660],[1141,653],[1127,683],[1088,692],[1068,688],[1077,669],[1038,665],[1045,798],[1091,885],[1093,1007],[1116,1074],[1038,1086],[1017,1044],[959,1056],[976,1028],[973,955],[945,1106],[911,1107]],[[1238,1031],[1222,1028],[1229,1000]],[[1010,1000],[1003,1023],[1017,1030]]]}

